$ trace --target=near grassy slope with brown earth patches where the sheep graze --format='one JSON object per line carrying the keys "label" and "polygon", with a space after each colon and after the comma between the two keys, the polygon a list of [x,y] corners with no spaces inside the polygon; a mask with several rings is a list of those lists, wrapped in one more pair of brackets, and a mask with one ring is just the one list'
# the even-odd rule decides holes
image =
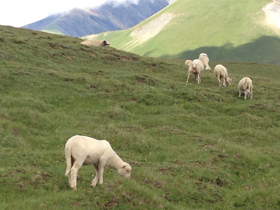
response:
{"label": "near grassy slope with brown earth patches where the sheep graze", "polygon": [[[212,71],[186,85],[183,60],[80,42],[0,26],[0,209],[279,208],[278,66],[222,62],[232,86]],[[238,97],[245,76],[253,100]],[[106,168],[91,188],[85,166],[73,192],[76,134],[107,139],[131,179]]]}

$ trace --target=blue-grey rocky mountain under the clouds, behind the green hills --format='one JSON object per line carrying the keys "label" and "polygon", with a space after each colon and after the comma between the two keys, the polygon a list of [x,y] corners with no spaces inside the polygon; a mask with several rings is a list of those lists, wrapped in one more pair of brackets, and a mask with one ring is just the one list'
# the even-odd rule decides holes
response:
{"label": "blue-grey rocky mountain under the clouds, behind the green hills", "polygon": [[135,26],[162,8],[170,0],[126,1],[122,4],[105,3],[94,8],[74,8],[68,12],[54,14],[22,28],[81,37],[104,31],[123,30]]}

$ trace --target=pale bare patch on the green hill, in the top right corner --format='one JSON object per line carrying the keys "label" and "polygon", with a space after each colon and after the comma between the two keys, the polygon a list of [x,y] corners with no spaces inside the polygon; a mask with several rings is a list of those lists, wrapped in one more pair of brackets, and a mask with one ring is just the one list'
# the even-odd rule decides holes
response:
{"label": "pale bare patch on the green hill, in the top right corner", "polygon": [[266,16],[264,24],[280,33],[280,0],[274,0],[265,5],[262,10]]}

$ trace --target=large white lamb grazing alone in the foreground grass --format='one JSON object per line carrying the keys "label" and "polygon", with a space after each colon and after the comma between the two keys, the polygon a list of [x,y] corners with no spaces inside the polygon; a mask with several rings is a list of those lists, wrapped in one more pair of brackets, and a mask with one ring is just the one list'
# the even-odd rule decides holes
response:
{"label": "large white lamb grazing alone in the foreground grass", "polygon": [[116,170],[117,174],[130,178],[131,166],[122,161],[114,152],[109,142],[97,140],[87,136],[73,136],[65,144],[66,173],[70,187],[77,190],[77,174],[82,165],[92,165],[96,171],[91,187],[103,184],[103,171],[105,166]]}

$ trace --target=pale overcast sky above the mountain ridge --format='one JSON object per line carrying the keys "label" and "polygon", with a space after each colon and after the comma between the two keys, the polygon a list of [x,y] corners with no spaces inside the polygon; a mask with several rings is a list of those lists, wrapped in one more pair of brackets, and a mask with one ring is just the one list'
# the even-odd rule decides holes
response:
{"label": "pale overcast sky above the mountain ridge", "polygon": [[[95,7],[108,1],[110,0],[3,0],[0,3],[0,25],[21,27],[74,7]],[[138,2],[138,0],[129,1]]]}

